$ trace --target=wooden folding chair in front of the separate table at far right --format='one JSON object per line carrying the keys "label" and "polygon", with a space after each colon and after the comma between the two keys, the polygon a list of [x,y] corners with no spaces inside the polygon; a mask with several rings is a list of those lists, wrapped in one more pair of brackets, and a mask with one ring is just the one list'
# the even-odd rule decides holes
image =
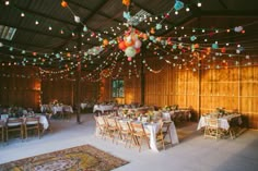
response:
{"label": "wooden folding chair in front of the separate table at far right", "polygon": [[211,137],[219,139],[221,138],[222,130],[219,127],[218,118],[207,118],[204,127],[204,138]]}

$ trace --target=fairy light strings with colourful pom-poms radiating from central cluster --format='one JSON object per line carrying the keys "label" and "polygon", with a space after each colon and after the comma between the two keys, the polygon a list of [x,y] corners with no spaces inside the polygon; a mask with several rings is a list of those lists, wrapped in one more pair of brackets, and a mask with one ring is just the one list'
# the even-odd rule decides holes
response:
{"label": "fairy light strings with colourful pom-poms radiating from central cluster", "polygon": [[[133,16],[131,16],[129,11],[130,3],[130,0],[122,0],[122,4],[126,5],[126,10],[122,14],[126,20],[125,23],[118,23],[104,32],[96,32],[91,30],[86,23],[83,23],[81,17],[72,10],[67,1],[61,0],[60,7],[71,13],[77,24],[82,25],[83,32],[81,33],[81,36],[86,41],[96,39],[99,42],[99,46],[94,46],[81,51],[78,51],[78,47],[73,46],[73,49],[66,47],[66,51],[44,52],[43,49],[40,51],[26,50],[0,42],[0,48],[8,48],[10,52],[16,51],[21,53],[21,56],[10,56],[10,59],[15,59],[15,62],[2,62],[1,65],[35,65],[39,69],[39,74],[35,75],[35,77],[46,80],[72,80],[79,65],[87,68],[89,64],[94,64],[96,60],[99,61],[102,57],[107,57],[102,60],[101,63],[97,63],[95,70],[87,72],[81,77],[81,80],[90,82],[99,82],[103,77],[112,77],[115,80],[121,76],[125,72],[128,72],[128,77],[131,77],[132,75],[139,77],[141,69],[140,65],[137,65],[138,59],[134,58],[134,56],[142,56],[141,49],[143,45],[145,49],[152,52],[151,56],[153,58],[157,58],[159,60],[164,61],[164,64],[172,64],[179,70],[185,69],[196,72],[201,69],[209,70],[212,68],[227,69],[243,65],[258,65],[258,63],[254,61],[256,54],[249,53],[257,47],[251,45],[247,46],[254,41],[253,39],[244,39],[237,42],[226,41],[230,39],[243,38],[246,35],[246,29],[258,24],[257,21],[231,28],[178,27],[165,24],[166,19],[172,15],[179,15],[180,11],[184,9],[186,12],[189,12],[192,5],[197,5],[198,8],[202,7],[201,1],[198,1],[197,4],[185,4],[183,1],[175,0],[172,8],[166,12],[157,15],[144,15],[142,17],[136,16],[139,22],[143,22],[150,26],[150,29],[143,33],[134,29],[133,25],[131,25]],[[28,17],[30,20],[35,21],[36,26],[43,26],[43,19],[37,17],[32,13],[23,12],[15,4],[12,5],[11,1],[5,0],[4,5],[17,10],[20,12],[20,17]],[[119,16],[118,14],[112,20]],[[112,20],[107,22],[110,22]],[[102,23],[99,23],[99,26],[101,25]],[[48,32],[58,29],[60,35],[78,36],[66,26],[59,27],[45,22],[44,27],[46,27]],[[173,28],[173,30],[168,36],[156,36],[160,30],[168,30],[171,28]],[[82,42],[82,46],[84,46],[86,41]],[[121,42],[124,42],[122,46]],[[129,42],[133,45],[129,45]],[[245,46],[243,46],[243,44]],[[48,47],[51,46],[55,45],[49,45]],[[136,48],[136,46],[138,48]],[[26,58],[26,56],[31,57]],[[82,60],[78,61],[79,58]],[[242,58],[242,61],[239,61],[238,58]],[[143,59],[141,62],[146,71],[154,74],[160,73],[165,69],[164,65],[159,70],[153,69],[148,62],[148,59]],[[58,63],[58,70],[46,68],[46,65],[50,66],[54,63]],[[125,69],[127,71],[125,71]],[[2,76],[5,75],[7,74]]]}

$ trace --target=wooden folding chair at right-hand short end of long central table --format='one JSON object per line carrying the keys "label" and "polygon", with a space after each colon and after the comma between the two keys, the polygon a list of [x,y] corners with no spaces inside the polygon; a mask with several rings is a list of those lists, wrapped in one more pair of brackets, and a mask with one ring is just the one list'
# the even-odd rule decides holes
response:
{"label": "wooden folding chair at right-hand short end of long central table", "polygon": [[[162,143],[163,149],[165,149],[165,145],[172,145],[171,124],[171,121],[161,122],[161,129],[156,133],[156,142]],[[165,142],[167,136],[169,142]]]}

